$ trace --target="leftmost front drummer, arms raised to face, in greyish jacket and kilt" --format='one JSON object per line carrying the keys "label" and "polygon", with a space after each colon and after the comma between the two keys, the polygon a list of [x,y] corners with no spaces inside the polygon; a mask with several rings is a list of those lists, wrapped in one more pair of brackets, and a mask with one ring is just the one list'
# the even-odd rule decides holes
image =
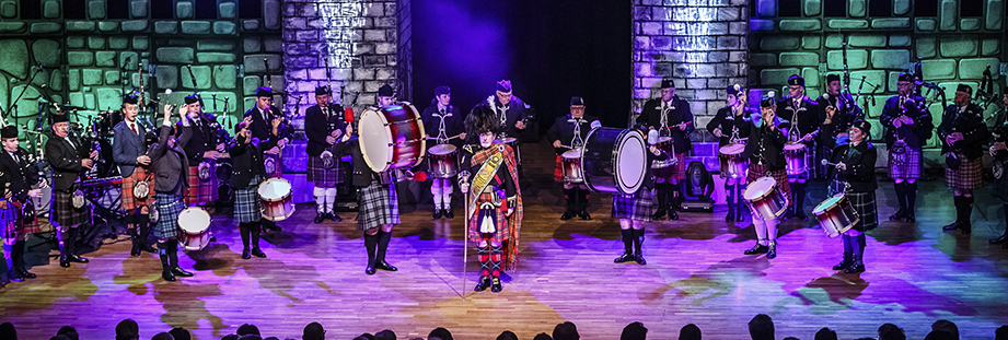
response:
{"label": "leftmost front drummer, arms raised to face, in greyish jacket and kilt", "polygon": [[175,277],[192,277],[193,273],[178,267],[178,214],[185,209],[183,195],[189,181],[186,178],[189,160],[185,145],[193,136],[193,127],[187,118],[189,109],[178,108],[182,130],[176,138],[172,125],[172,107],[164,106],[164,120],[158,134],[158,145],[150,152],[151,168],[158,180],[154,183],[154,204],[158,209],[158,222],[154,224],[154,237],[158,237],[158,255],[161,257],[161,278],[175,281]]}

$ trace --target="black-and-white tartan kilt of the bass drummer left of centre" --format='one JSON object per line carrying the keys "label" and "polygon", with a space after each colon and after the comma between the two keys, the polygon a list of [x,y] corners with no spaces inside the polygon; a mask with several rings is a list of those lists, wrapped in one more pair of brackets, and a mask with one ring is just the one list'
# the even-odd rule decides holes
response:
{"label": "black-and-white tartan kilt of the bass drummer left of centre", "polygon": [[371,180],[357,190],[357,230],[367,231],[383,224],[399,224],[399,201],[395,185]]}

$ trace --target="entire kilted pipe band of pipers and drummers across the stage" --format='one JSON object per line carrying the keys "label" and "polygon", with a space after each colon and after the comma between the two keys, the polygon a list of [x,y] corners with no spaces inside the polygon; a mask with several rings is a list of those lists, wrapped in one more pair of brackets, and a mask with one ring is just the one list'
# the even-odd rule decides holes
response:
{"label": "entire kilted pipe band of pipers and drummers across the stage", "polygon": [[[756,244],[744,254],[778,255],[777,226],[781,220],[808,220],[804,199],[809,179],[826,178],[830,197],[811,213],[829,237],[843,239],[843,259],[833,267],[845,273],[865,271],[865,232],[879,224],[874,175],[878,150],[871,124],[856,99],[844,92],[838,75],[826,77],[827,91],[816,101],[806,96],[804,80],[788,79],[788,94],[767,93],[758,112],[748,105],[740,85],[727,87],[727,105],[706,129],[718,138],[720,176],[725,179],[726,221],[744,221],[746,207]],[[648,101],[633,127],[601,127],[586,115],[586,101],[572,97],[570,112],[547,131],[556,150],[556,180],[564,186],[566,209],[560,216],[590,220],[590,192],[612,194],[612,218],[618,220],[624,254],[614,261],[646,265],[641,245],[647,222],[677,220],[686,179],[690,134],[696,130],[690,104],[675,95],[671,80],[661,82],[661,96]],[[893,221],[915,221],[917,179],[923,146],[934,124],[914,77],[901,74],[899,93],[881,114],[889,169],[900,204]],[[59,263],[86,263],[77,244],[80,225],[92,216],[84,189],[120,185],[120,204],[132,247],[130,254],[157,251],[162,278],[193,273],[178,267],[177,249],[200,250],[211,242],[208,209],[233,200],[234,220],[243,243],[242,258],[266,257],[259,247],[264,228],[279,230],[289,218],[291,185],[282,178],[282,149],[292,126],[277,109],[267,87],[256,91],[255,107],[245,113],[231,138],[217,118],[202,112],[198,95],[184,105],[164,105],[160,126],[139,119],[143,98],[128,94],[115,125],[112,161],[115,180],[91,180],[99,141],[70,133],[69,115],[51,116],[53,137],[44,148],[51,177],[35,155],[19,146],[15,126],[0,130],[0,223],[3,254],[11,281],[36,275],[25,270],[25,235],[38,228],[35,201],[51,188],[50,223],[59,245]],[[957,220],[943,230],[970,234],[973,191],[983,185],[983,149],[992,133],[982,109],[972,104],[973,89],[959,85],[954,104],[946,108],[937,128],[947,154],[946,180],[953,189]],[[1008,104],[1008,95],[1004,101]],[[511,93],[510,81],[497,83],[495,94],[468,113],[451,104],[448,86],[435,89],[429,107],[419,113],[396,102],[393,89],[379,90],[379,103],[355,115],[333,103],[331,86],[315,89],[316,105],[304,113],[308,138],[308,181],[314,185],[315,223],[340,221],[337,187],[357,188],[357,228],[362,232],[367,274],[396,271],[385,258],[392,231],[401,224],[396,181],[431,179],[433,219],[453,219],[454,187],[463,195],[466,243],[476,245],[480,278],[476,291],[502,290],[500,273],[518,266],[522,224],[521,152],[518,136],[526,128],[525,105]],[[176,116],[176,117],[173,117]],[[994,131],[987,150],[995,156],[996,195],[1008,208],[1008,125]],[[816,162],[820,160],[820,162]],[[100,163],[100,162],[99,162]],[[113,165],[109,165],[113,166]],[[422,169],[422,171],[421,171]],[[653,189],[653,191],[652,191]],[[1008,216],[1008,209],[1006,209]],[[149,236],[157,238],[157,250]],[[1008,246],[1008,232],[990,241]]]}

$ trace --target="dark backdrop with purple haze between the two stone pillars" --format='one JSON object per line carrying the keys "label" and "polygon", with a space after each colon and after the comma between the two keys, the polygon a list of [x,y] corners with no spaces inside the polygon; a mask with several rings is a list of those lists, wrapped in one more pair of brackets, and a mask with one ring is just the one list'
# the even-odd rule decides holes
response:
{"label": "dark backdrop with purple haze between the two stone pillars", "polygon": [[414,104],[452,89],[468,112],[510,79],[545,131],[584,97],[587,114],[625,127],[630,110],[630,1],[413,0]]}

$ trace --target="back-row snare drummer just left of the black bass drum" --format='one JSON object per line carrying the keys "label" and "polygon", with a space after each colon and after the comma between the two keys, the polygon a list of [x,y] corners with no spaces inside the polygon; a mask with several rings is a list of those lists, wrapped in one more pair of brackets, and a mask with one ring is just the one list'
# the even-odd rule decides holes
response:
{"label": "back-row snare drummer just left of the black bass drum", "polygon": [[[557,167],[564,166],[561,155],[565,152],[573,150],[580,157],[581,148],[584,146],[584,139],[591,131],[591,122],[598,121],[594,116],[584,116],[584,99],[581,97],[570,98],[570,114],[556,118],[556,121],[546,130],[546,137],[553,141],[553,148],[557,154]],[[560,215],[560,220],[570,220],[575,215],[581,220],[591,220],[588,214],[588,186],[581,183],[564,183],[564,196],[567,198],[567,209]]]}

